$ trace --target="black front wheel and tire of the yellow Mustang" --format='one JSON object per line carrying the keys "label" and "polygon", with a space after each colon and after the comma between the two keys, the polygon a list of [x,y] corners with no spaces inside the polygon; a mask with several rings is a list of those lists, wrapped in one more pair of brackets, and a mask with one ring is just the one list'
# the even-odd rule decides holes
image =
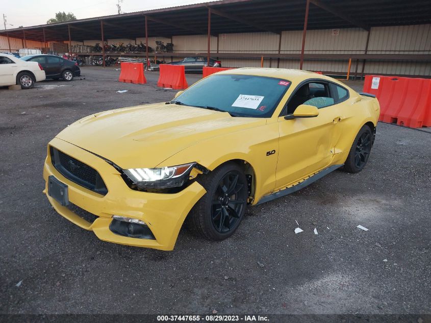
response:
{"label": "black front wheel and tire of the yellow Mustang", "polygon": [[198,180],[207,190],[190,211],[189,230],[212,241],[229,238],[238,229],[247,208],[247,178],[241,167],[226,163]]}

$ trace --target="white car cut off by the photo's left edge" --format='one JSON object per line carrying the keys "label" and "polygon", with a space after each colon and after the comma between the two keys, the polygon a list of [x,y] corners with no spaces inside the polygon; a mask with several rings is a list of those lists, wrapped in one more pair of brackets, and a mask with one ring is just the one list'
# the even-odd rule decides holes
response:
{"label": "white car cut off by the photo's left edge", "polygon": [[0,86],[21,85],[31,89],[45,80],[45,71],[37,62],[25,62],[13,55],[0,54]]}

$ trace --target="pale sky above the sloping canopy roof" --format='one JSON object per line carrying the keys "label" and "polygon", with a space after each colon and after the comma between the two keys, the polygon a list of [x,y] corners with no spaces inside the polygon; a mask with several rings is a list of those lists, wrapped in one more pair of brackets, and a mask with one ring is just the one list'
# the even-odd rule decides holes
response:
{"label": "pale sky above the sloping canopy roof", "polygon": [[[211,0],[122,0],[121,13],[160,9],[174,6],[210,2]],[[0,30],[45,24],[56,12],[71,12],[77,19],[117,14],[118,0],[0,0]],[[12,26],[13,25],[13,26]]]}

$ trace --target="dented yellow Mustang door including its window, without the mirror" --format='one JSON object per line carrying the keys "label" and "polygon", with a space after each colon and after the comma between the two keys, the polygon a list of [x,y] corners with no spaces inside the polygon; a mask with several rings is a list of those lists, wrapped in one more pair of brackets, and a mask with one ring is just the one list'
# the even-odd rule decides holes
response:
{"label": "dented yellow Mustang door including its window, without the mirror", "polygon": [[[301,84],[291,95],[278,118],[280,132],[276,170],[276,187],[294,185],[297,181],[328,166],[333,160],[334,145],[341,134],[337,123],[343,118],[333,86],[313,80]],[[301,104],[316,106],[319,115],[286,120]]]}

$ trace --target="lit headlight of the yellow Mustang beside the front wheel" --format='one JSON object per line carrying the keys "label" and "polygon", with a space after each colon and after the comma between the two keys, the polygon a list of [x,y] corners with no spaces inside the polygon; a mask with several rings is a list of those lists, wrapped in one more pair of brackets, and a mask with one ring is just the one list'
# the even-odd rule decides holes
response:
{"label": "lit headlight of the yellow Mustang beside the front wheel", "polygon": [[183,186],[194,165],[196,163],[161,168],[129,168],[123,171],[140,188],[168,188]]}

